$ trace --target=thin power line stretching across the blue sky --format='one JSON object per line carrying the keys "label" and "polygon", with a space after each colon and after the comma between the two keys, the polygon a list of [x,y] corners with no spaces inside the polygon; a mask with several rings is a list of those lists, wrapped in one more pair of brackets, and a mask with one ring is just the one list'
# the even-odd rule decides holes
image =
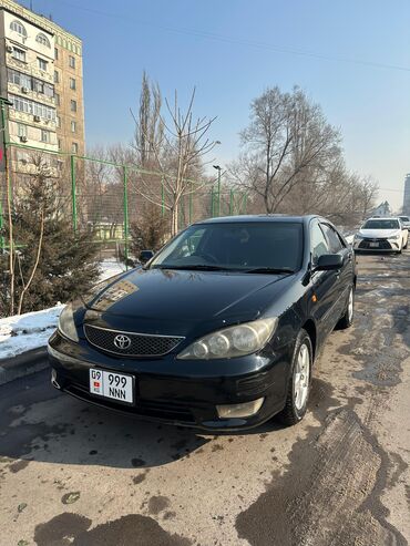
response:
{"label": "thin power line stretching across the blue sky", "polygon": [[285,53],[285,54],[298,55],[298,56],[308,56],[308,58],[317,59],[317,60],[321,60],[321,61],[345,62],[345,63],[360,64],[360,65],[377,68],[377,69],[387,69],[387,70],[396,70],[396,71],[401,71],[401,72],[410,72],[410,66],[401,66],[401,65],[397,65],[397,64],[383,63],[383,62],[378,62],[378,61],[369,61],[369,60],[365,60],[365,59],[352,59],[352,58],[348,58],[348,56],[328,55],[327,53],[326,54],[325,53],[316,53],[316,52],[305,51],[305,50],[299,50],[299,49],[285,48],[281,45],[279,47],[279,45],[270,44],[267,42],[248,40],[248,39],[244,39],[244,38],[229,37],[226,34],[218,34],[215,32],[202,31],[202,30],[196,30],[196,29],[168,27],[168,25],[157,24],[157,23],[154,23],[152,21],[135,20],[133,18],[130,18],[127,16],[123,16],[121,13],[110,13],[107,11],[95,10],[93,8],[84,8],[83,6],[73,4],[71,2],[66,2],[65,0],[60,0],[60,3],[63,3],[70,8],[86,11],[89,13],[109,17],[111,19],[113,19],[113,18],[122,19],[129,23],[139,24],[142,27],[152,27],[152,28],[156,28],[156,29],[160,29],[160,30],[163,30],[166,32],[173,32],[173,33],[177,33],[177,34],[187,34],[187,35],[193,35],[193,37],[197,37],[197,38],[205,38],[207,40],[214,40],[214,41],[219,41],[219,42],[225,42],[225,43],[233,43],[233,44],[237,44],[237,45],[247,45],[250,48],[274,51],[276,53]]}

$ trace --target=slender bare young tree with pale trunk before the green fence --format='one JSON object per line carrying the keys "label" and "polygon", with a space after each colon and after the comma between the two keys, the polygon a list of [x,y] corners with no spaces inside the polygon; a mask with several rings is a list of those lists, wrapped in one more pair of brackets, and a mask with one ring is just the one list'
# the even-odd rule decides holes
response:
{"label": "slender bare young tree with pale trunk before the green fence", "polygon": [[[215,117],[194,119],[193,106],[195,89],[191,95],[188,107],[183,112],[178,105],[175,91],[174,103],[170,105],[165,100],[167,120],[161,115],[164,132],[161,141],[152,140],[145,133],[145,138],[157,164],[163,185],[163,198],[153,195],[151,185],[144,177],[141,178],[142,195],[156,205],[163,205],[171,215],[171,235],[178,230],[178,212],[182,198],[197,192],[206,182],[197,183],[189,178],[203,165],[203,158],[208,154],[216,142],[207,136]],[[140,121],[134,116],[137,131],[141,131]]]}

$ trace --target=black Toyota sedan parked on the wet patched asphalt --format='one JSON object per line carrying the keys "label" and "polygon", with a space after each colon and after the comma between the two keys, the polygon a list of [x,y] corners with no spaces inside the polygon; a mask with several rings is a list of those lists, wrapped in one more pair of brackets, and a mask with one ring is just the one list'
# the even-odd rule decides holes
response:
{"label": "black Toyota sedan parked on the wet patched asphalt", "polygon": [[207,431],[306,413],[326,337],[353,319],[353,251],[316,216],[192,225],[65,307],[52,383],[141,418]]}

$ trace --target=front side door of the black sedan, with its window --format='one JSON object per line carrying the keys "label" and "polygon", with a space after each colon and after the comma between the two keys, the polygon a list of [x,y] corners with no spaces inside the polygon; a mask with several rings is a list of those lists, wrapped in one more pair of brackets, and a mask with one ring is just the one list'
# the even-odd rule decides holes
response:
{"label": "front side door of the black sedan, with its window", "polygon": [[318,219],[310,223],[310,255],[311,255],[311,315],[318,327],[320,341],[335,328],[339,320],[336,309],[340,295],[340,271],[315,271],[319,257],[331,254],[329,241]]}

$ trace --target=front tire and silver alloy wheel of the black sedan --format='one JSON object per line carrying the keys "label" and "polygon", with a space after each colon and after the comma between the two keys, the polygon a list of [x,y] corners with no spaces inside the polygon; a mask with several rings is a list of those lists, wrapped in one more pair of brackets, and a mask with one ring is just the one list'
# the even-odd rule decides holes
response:
{"label": "front tire and silver alloy wheel of the black sedan", "polygon": [[[311,340],[307,331],[301,329],[296,338],[286,404],[278,414],[286,426],[293,426],[305,416],[309,400],[312,363]],[[305,375],[303,373],[304,370]]]}

